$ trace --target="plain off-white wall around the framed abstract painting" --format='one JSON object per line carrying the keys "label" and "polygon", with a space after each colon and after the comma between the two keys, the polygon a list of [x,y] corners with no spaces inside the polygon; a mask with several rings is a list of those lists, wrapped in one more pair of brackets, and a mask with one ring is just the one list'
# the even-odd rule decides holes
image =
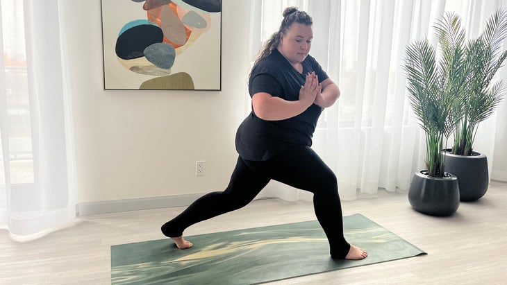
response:
{"label": "plain off-white wall around the framed abstract painting", "polygon": [[[104,90],[101,1],[65,1],[77,202],[222,191],[249,72],[249,1],[222,1],[222,91]],[[121,12],[121,11],[118,11]],[[206,175],[194,175],[206,160]]]}

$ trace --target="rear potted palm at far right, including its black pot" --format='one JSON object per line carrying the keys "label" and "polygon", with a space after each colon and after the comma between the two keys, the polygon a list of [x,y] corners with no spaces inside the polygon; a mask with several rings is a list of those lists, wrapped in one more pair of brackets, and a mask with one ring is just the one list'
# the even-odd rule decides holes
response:
{"label": "rear potted palm at far right, including its black pot", "polygon": [[[459,17],[454,21],[459,23]],[[456,25],[460,34],[465,31]],[[447,27],[438,28],[439,42],[449,49],[452,35]],[[458,177],[460,200],[478,200],[488,190],[488,160],[484,154],[474,151],[474,139],[479,123],[487,119],[499,105],[505,88],[501,80],[492,83],[494,74],[507,57],[507,51],[501,51],[507,36],[507,10],[498,10],[487,22],[483,33],[468,42],[458,42],[463,51],[463,62],[457,65],[465,72],[466,78],[460,101],[465,103],[461,118],[456,122],[454,144],[446,151],[447,171]]]}

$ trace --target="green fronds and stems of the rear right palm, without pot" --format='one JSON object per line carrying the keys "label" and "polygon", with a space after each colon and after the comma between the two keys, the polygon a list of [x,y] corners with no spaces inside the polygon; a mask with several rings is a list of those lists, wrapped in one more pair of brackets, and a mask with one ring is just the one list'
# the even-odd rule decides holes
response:
{"label": "green fronds and stems of the rear right palm, without pot", "polygon": [[[459,23],[459,17],[454,15],[453,21]],[[460,24],[452,28],[458,29],[464,38],[465,33]],[[463,108],[463,112],[460,112],[462,116],[456,121],[452,153],[472,155],[479,123],[494,112],[506,91],[501,80],[492,84],[492,79],[507,58],[507,51],[501,51],[507,37],[507,10],[495,12],[488,20],[481,36],[466,43],[463,40],[454,41],[456,33],[451,26],[440,25],[437,31],[444,54],[446,50],[463,51],[464,56],[460,58],[461,62],[457,63],[460,68],[456,69],[456,72],[463,73],[460,78],[464,78],[465,81],[459,88],[460,103],[455,106]]]}

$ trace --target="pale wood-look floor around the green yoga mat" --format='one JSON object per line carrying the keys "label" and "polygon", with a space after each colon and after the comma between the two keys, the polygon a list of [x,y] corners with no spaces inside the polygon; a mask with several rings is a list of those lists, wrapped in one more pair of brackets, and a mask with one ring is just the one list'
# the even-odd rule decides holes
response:
{"label": "pale wood-look floor around the green yoga mat", "polygon": [[[342,201],[428,252],[427,255],[307,275],[270,284],[506,284],[507,184],[491,182],[477,202],[436,218],[411,209],[404,193]],[[110,284],[110,245],[162,239],[161,224],[183,208],[78,218],[74,225],[30,239],[0,230],[0,284]],[[315,220],[308,201],[255,200],[190,227],[185,235]],[[211,282],[210,284],[212,284]]]}

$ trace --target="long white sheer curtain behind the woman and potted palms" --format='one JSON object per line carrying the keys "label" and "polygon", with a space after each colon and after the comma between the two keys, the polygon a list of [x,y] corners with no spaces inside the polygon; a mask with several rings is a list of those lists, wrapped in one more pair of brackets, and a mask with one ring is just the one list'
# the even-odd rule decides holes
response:
{"label": "long white sheer curtain behind the woman and potted palms", "polygon": [[[313,148],[337,174],[340,197],[351,200],[358,191],[365,196],[376,195],[379,188],[406,191],[413,173],[424,169],[424,133],[406,101],[401,71],[405,47],[425,36],[435,44],[433,25],[447,11],[460,15],[467,37],[476,37],[495,10],[507,8],[507,1],[269,0],[252,5],[252,58],[278,31],[283,9],[297,6],[313,17],[310,54],[341,90],[339,101],[319,119]],[[507,78],[505,67],[498,77]],[[497,180],[507,177],[501,147],[507,144],[506,113],[504,102],[481,123],[475,144],[488,156],[491,177]],[[310,198],[277,182],[264,195]]]}

